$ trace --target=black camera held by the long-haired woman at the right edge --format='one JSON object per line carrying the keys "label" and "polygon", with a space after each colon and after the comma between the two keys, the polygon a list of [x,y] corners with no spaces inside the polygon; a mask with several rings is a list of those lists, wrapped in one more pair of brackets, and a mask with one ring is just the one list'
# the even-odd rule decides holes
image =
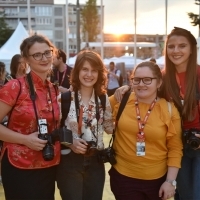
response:
{"label": "black camera held by the long-haired woman at the right edge", "polygon": [[189,144],[192,149],[197,149],[200,146],[200,138],[196,137],[195,134],[200,134],[200,131],[196,128],[183,131],[185,142]]}

